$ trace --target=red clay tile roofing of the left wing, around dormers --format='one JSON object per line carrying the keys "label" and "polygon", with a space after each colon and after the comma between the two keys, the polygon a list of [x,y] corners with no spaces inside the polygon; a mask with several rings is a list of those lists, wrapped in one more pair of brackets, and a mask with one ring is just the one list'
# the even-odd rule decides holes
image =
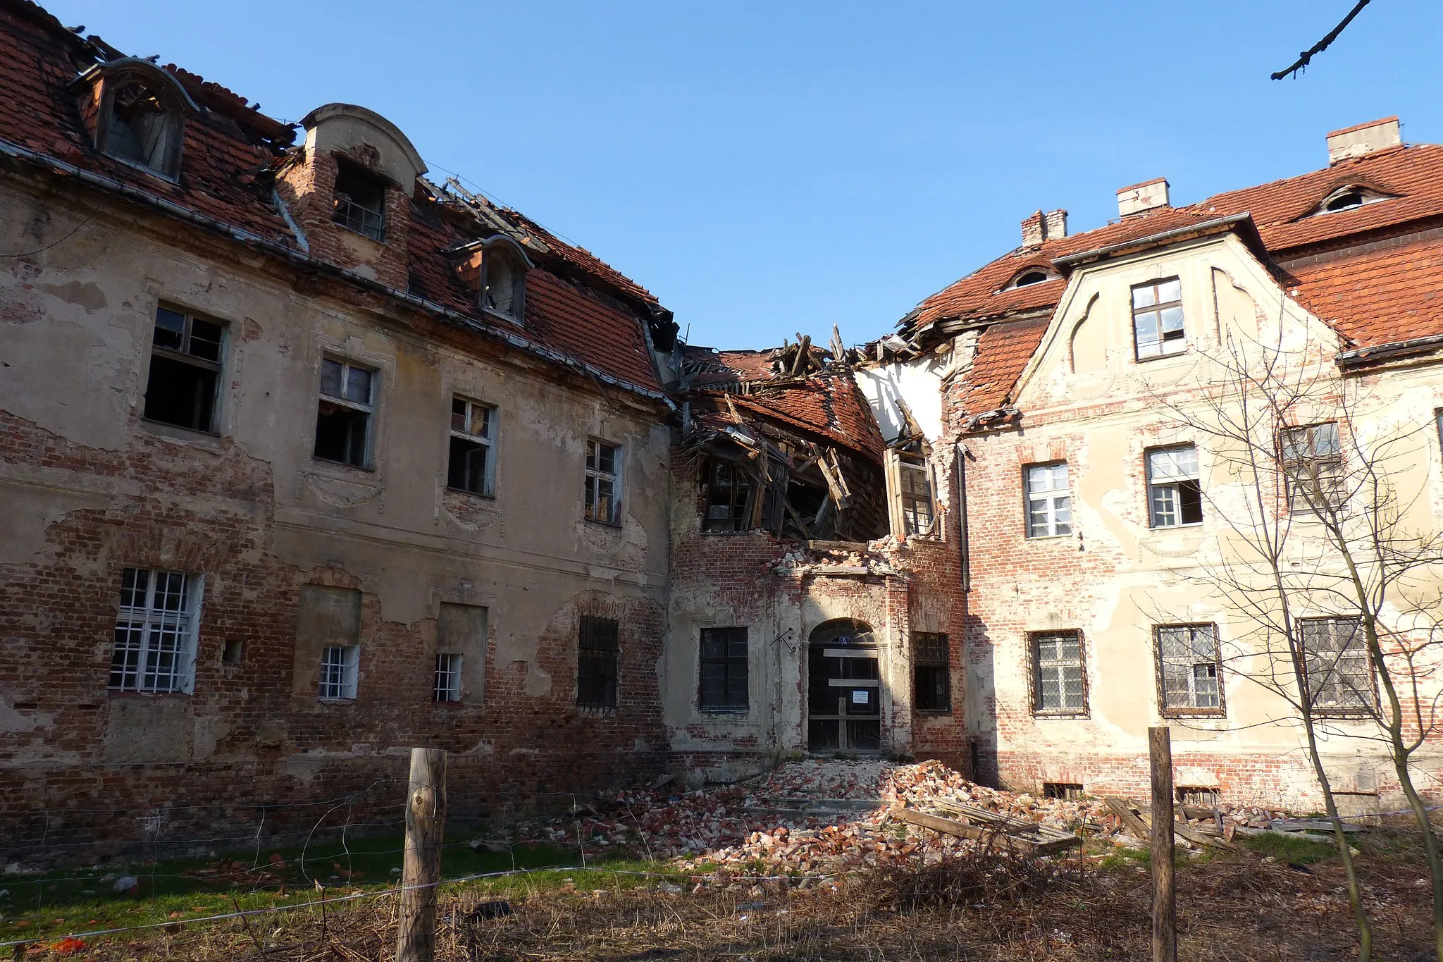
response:
{"label": "red clay tile roofing of the left wing, around dormers", "polygon": [[[219,84],[166,66],[202,105],[185,124],[180,183],[150,176],[95,150],[71,84],[107,56],[102,42],[84,40],[29,0],[0,0],[0,140],[241,228],[271,244],[299,250],[277,211],[270,173],[291,131]],[[411,293],[489,325],[476,297],[460,284],[446,251],[495,234],[468,221],[459,205],[440,218],[446,199],[417,193],[408,239]],[[489,205],[512,232],[530,237],[537,268],[528,277],[525,327],[515,336],[592,365],[646,391],[659,391],[644,325],[664,316],[657,299],[635,281],[567,244],[524,215]],[[472,222],[473,229],[457,226]],[[504,323],[504,322],[502,322]]]}

